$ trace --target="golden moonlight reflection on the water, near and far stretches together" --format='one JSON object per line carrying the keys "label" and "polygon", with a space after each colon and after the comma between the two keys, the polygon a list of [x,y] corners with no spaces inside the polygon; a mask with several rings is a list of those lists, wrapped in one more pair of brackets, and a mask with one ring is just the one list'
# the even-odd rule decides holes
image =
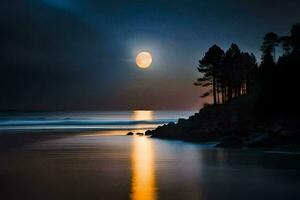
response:
{"label": "golden moonlight reflection on the water, near and far stretches together", "polygon": [[[152,120],[152,111],[134,111],[135,120]],[[132,200],[156,200],[154,150],[151,139],[135,136],[132,144]]]}

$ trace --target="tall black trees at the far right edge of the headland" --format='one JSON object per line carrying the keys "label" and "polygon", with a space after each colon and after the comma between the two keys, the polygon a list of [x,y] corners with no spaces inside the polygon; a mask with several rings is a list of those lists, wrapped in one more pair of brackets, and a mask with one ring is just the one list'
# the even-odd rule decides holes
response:
{"label": "tall black trees at the far right edge of the headland", "polygon": [[276,36],[267,34],[261,48],[257,109],[272,115],[299,114],[300,24],[292,26],[290,35],[279,37],[283,54],[277,62],[270,54],[270,49],[276,46]]}

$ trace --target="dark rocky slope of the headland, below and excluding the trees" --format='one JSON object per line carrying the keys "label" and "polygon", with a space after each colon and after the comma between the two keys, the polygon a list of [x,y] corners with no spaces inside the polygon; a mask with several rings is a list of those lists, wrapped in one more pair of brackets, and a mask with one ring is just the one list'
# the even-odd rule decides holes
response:
{"label": "dark rocky slope of the headland, below and excluding the trees", "polygon": [[300,150],[297,116],[257,118],[249,96],[225,105],[207,106],[188,119],[160,126],[154,138],[216,142],[217,147],[262,147]]}

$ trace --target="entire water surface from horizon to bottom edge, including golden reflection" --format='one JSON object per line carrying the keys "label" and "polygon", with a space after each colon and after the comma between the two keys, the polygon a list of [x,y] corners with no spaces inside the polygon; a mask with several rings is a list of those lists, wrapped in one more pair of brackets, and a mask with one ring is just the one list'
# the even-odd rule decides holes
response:
{"label": "entire water surface from horizon to bottom edge, including golden reflection", "polygon": [[[0,143],[12,144],[0,151],[0,199],[300,199],[297,153],[125,136],[127,129],[152,128],[189,114],[133,111],[3,117],[3,130],[26,131],[0,134]],[[69,134],[77,127],[95,130]],[[60,134],[30,133],[36,129],[57,129]]]}

